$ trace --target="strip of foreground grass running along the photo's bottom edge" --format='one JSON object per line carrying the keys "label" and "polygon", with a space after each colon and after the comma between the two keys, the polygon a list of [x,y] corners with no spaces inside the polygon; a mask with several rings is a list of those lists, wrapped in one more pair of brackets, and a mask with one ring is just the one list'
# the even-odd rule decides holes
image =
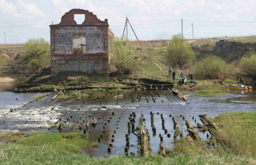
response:
{"label": "strip of foreground grass running along the photo's bottom edge", "polygon": [[37,150],[31,151],[29,148],[12,147],[8,145],[2,151],[0,155],[0,164],[22,164],[22,165],[32,165],[32,164],[69,164],[69,165],[96,165],[96,164],[106,164],[106,165],[242,165],[242,164],[255,164],[256,160],[249,157],[238,157],[233,155],[178,155],[162,157],[161,155],[149,155],[149,157],[126,157],[126,156],[112,156],[110,158],[90,158],[89,155],[82,155],[77,153],[71,153],[68,155],[58,153],[52,150],[46,151]]}

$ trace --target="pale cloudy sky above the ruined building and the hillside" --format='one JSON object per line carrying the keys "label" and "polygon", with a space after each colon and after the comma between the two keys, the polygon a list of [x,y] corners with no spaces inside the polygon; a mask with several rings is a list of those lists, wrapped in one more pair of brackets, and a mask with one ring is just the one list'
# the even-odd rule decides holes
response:
{"label": "pale cloudy sky above the ruined building and the hillside", "polygon": [[[192,38],[192,23],[194,38],[256,34],[256,0],[0,0],[0,43],[5,42],[4,32],[7,43],[39,37],[50,40],[47,23],[60,23],[62,15],[72,8],[89,10],[100,20],[108,18],[118,37],[128,17],[139,40],[170,39],[181,33],[181,18],[186,38]],[[46,24],[2,28],[42,23]],[[130,27],[128,37],[136,39]]]}

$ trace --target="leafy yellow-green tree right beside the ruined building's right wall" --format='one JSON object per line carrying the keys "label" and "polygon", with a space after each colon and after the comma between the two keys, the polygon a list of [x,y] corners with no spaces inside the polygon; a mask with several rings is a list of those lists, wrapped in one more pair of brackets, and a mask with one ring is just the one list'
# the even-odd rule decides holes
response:
{"label": "leafy yellow-green tree right beside the ruined building's right wall", "polygon": [[121,75],[131,74],[136,69],[135,52],[129,45],[129,41],[125,43],[117,37],[113,38],[111,42],[111,63],[115,65]]}

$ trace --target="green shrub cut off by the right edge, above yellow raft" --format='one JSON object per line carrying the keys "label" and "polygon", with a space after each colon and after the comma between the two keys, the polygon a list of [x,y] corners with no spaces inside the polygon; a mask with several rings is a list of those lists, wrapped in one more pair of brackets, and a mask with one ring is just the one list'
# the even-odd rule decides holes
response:
{"label": "green shrub cut off by the right edge, above yellow raft", "polygon": [[238,67],[242,74],[256,77],[256,54],[241,58]]}

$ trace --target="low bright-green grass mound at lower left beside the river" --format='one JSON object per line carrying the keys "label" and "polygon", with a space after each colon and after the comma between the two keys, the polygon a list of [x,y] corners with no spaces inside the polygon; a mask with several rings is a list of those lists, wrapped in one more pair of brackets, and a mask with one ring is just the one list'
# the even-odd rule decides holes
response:
{"label": "low bright-green grass mound at lower left beside the river", "polygon": [[49,133],[36,134],[17,140],[15,143],[0,146],[0,150],[16,148],[17,150],[30,150],[31,153],[57,152],[69,155],[81,153],[83,148],[89,147],[87,135],[79,133]]}

